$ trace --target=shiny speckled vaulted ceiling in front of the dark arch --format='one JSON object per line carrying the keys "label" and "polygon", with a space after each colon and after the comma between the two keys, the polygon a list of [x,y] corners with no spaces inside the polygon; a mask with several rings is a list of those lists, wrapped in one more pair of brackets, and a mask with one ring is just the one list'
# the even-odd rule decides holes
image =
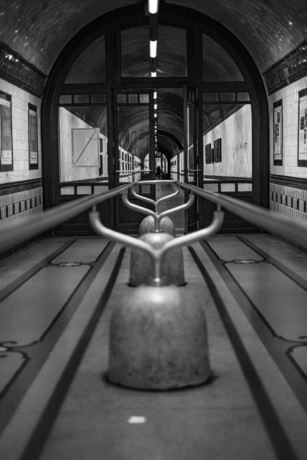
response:
{"label": "shiny speckled vaulted ceiling in front of the dark arch", "polygon": [[[64,45],[85,25],[131,0],[3,0],[6,45],[48,74]],[[301,0],[168,0],[220,21],[243,42],[263,72],[297,46],[307,28]]]}

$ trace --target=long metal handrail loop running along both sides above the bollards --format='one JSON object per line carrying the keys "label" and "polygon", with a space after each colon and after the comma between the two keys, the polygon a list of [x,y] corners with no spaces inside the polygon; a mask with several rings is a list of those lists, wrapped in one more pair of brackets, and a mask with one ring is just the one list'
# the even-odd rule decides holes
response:
{"label": "long metal handrail loop running along both sides above the bollards", "polygon": [[[232,196],[221,193],[210,192],[199,189],[194,185],[185,184],[177,180],[148,180],[138,181],[138,184],[177,184],[181,188],[191,190],[198,196],[220,205],[223,209],[236,214],[240,218],[249,221],[256,227],[270,231],[284,240],[290,242],[307,252],[307,225],[293,220],[290,222],[282,217],[272,214],[268,209],[247,203]],[[102,192],[97,195],[90,195],[70,201],[43,213],[35,214],[28,218],[21,219],[17,223],[3,224],[0,227],[0,251],[4,251],[18,242],[26,240],[31,236],[39,235],[86,211],[90,207],[113,198],[123,191],[131,188],[131,183],[121,185],[115,189]]]}

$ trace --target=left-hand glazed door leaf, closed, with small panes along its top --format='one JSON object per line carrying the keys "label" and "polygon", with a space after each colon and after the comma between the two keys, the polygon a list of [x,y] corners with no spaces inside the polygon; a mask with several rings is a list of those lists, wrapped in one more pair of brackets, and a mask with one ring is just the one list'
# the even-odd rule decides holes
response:
{"label": "left-hand glazed door leaf, closed, with small panes along its top", "polygon": [[[155,118],[153,90],[114,90],[114,171],[115,187],[139,180],[155,179]],[[139,185],[137,193],[155,199],[155,185]],[[130,189],[128,190],[130,195]],[[138,200],[132,195],[130,201]],[[151,207],[144,201],[142,206]],[[116,196],[116,230],[138,233],[145,215],[136,213]]]}

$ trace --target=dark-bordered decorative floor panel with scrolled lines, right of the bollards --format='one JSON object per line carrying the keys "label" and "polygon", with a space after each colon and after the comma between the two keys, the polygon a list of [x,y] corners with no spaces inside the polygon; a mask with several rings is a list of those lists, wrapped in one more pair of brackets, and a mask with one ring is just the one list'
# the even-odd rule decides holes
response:
{"label": "dark-bordered decorative floor panel with scrolled lines, right of the bollards", "polygon": [[201,245],[307,412],[307,282],[243,236]]}

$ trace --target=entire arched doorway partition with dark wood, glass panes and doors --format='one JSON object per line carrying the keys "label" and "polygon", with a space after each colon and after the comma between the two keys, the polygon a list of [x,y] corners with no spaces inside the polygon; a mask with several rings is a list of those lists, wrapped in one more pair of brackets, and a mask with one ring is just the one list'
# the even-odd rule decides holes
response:
{"label": "entire arched doorway partition with dark wood, glass panes and doors", "polygon": [[[148,37],[140,4],[95,20],[61,52],[42,104],[45,206],[154,179],[156,150],[171,178],[267,206],[266,96],[249,53],[209,17],[162,4],[151,77]],[[141,192],[154,197],[155,187]],[[100,211],[104,224],[128,233],[142,218],[120,198]],[[206,225],[211,212],[200,200],[188,229]],[[228,215],[224,231],[246,226]],[[87,215],[57,232],[91,233]]]}

